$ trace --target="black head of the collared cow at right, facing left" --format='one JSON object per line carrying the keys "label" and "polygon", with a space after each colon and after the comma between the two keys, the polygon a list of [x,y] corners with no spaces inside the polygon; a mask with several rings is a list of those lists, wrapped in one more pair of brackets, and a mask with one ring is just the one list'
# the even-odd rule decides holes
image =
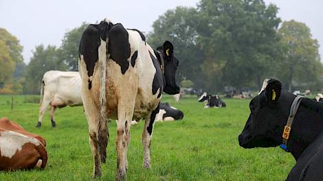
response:
{"label": "black head of the collared cow at right, facing left", "polygon": [[282,84],[274,79],[265,80],[260,91],[249,103],[251,113],[238,136],[241,147],[276,147],[282,143],[282,131],[296,96],[282,90]]}

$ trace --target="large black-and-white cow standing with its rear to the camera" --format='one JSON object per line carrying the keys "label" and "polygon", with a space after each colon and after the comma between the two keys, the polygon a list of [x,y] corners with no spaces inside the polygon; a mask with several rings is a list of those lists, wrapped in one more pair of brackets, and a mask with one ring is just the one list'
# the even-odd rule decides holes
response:
{"label": "large black-and-white cow standing with its rear to the camera", "polygon": [[175,82],[179,61],[173,52],[169,41],[156,51],[146,43],[142,32],[125,29],[122,24],[113,24],[107,19],[85,29],[78,63],[94,178],[101,175],[100,163],[106,160],[107,117],[118,119],[115,179],[123,180],[128,169],[126,153],[133,119],[145,119],[143,167],[151,167],[150,145],[161,94],[163,91],[170,95],[179,93]]}

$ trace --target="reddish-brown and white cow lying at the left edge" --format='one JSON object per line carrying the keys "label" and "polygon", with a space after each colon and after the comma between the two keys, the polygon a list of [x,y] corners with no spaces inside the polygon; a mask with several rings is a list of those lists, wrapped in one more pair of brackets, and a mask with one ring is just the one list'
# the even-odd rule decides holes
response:
{"label": "reddish-brown and white cow lying at the left edge", "polygon": [[45,168],[45,139],[8,118],[0,119],[0,170]]}

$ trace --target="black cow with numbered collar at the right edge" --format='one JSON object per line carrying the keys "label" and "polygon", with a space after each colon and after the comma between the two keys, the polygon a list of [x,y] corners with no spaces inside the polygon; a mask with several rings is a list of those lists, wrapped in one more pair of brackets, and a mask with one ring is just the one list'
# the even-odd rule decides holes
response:
{"label": "black cow with numbered collar at the right edge", "polygon": [[296,159],[287,180],[323,180],[322,104],[293,95],[278,80],[268,78],[249,108],[238,136],[241,147],[280,145]]}

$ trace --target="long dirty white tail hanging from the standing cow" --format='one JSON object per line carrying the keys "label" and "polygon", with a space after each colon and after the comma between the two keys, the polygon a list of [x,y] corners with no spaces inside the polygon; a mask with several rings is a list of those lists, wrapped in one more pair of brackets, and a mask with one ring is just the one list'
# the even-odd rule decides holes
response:
{"label": "long dirty white tail hanging from the standing cow", "polygon": [[107,45],[108,38],[100,39],[99,47],[99,71],[100,71],[100,105],[99,105],[99,123],[98,123],[98,148],[100,160],[102,163],[106,162],[107,158],[107,144],[108,144],[108,130],[107,130],[107,114],[106,114],[106,81],[107,81]]}

